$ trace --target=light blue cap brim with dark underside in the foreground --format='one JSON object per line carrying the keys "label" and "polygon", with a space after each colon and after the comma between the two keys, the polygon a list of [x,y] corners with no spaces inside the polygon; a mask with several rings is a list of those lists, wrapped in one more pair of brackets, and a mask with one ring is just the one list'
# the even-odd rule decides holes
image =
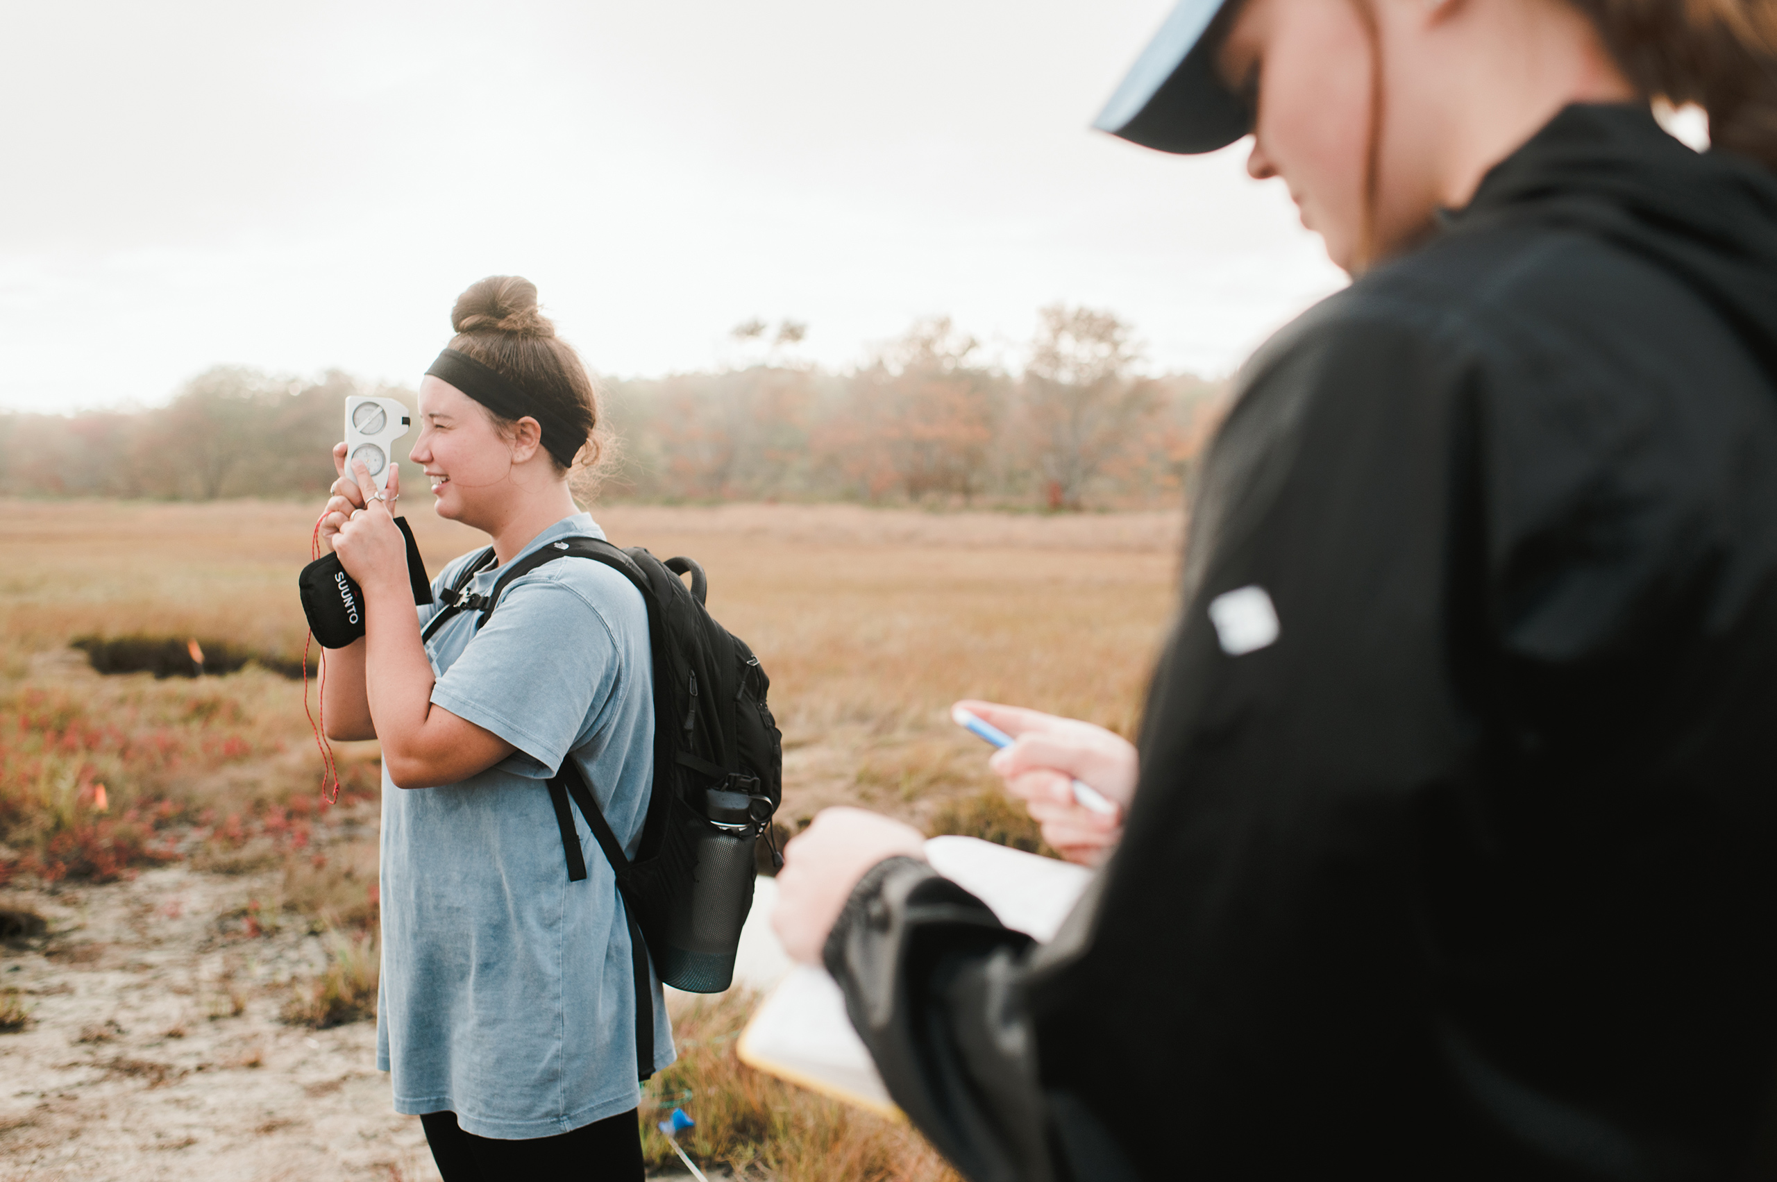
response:
{"label": "light blue cap brim with dark underside in the foreground", "polygon": [[1143,148],[1201,153],[1251,132],[1251,112],[1215,75],[1207,34],[1230,0],[1180,0],[1093,126]]}

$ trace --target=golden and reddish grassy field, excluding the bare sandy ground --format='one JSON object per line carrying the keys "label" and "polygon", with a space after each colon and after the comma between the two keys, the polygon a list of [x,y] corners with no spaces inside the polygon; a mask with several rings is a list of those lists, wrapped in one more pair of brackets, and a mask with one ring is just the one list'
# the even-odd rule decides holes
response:
{"label": "golden and reddish grassy field, excluding the bare sandy ground", "polygon": [[[274,667],[299,658],[295,574],[313,512],[0,503],[0,887],[105,882],[162,862],[270,875],[265,898],[227,917],[229,931],[325,931],[329,969],[283,1004],[284,1020],[329,1027],[363,1017],[375,997],[375,743],[338,747],[345,791],[325,807],[300,683],[252,665],[201,679],[101,677],[71,647],[195,640]],[[1130,734],[1182,531],[1178,514],[750,505],[595,515],[615,542],[689,555],[709,572],[711,610],[771,675],[791,828],[844,802],[928,832],[1020,844],[1034,834],[945,707],[986,697]],[[480,544],[426,507],[412,524],[434,572]],[[682,1090],[697,1075],[705,1106],[729,1097],[732,1120],[711,1123],[730,1132],[697,1141],[700,1152],[784,1180],[832,1177],[823,1164],[848,1155],[851,1177],[942,1177],[912,1134],[734,1063],[743,1010],[725,1006],[684,1017],[691,1049],[681,1082],[663,1084]]]}

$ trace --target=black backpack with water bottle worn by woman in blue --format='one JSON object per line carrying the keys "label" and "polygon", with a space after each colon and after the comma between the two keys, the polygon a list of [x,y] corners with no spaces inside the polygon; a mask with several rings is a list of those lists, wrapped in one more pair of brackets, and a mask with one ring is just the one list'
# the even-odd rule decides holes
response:
{"label": "black backpack with water bottle worn by woman in blue", "polygon": [[[784,739],[766,706],[766,670],[746,643],[704,608],[707,579],[689,558],[661,562],[647,549],[590,537],[567,537],[514,562],[487,595],[464,592],[494,560],[494,549],[467,562],[423,640],[458,611],[480,611],[485,627],[506,587],[556,558],[590,558],[627,578],[649,610],[654,656],[654,795],[641,844],[624,855],[617,835],[572,757],[549,780],[570,882],[586,878],[569,800],[579,805],[629,915],[636,974],[636,1068],[654,1070],[654,1002],[649,954],[659,979],[693,994],[716,994],[734,979],[741,924],[753,899],[759,837],[771,837],[771,814],[784,791]],[[691,587],[682,574],[691,576]],[[769,846],[773,867],[782,864]]]}

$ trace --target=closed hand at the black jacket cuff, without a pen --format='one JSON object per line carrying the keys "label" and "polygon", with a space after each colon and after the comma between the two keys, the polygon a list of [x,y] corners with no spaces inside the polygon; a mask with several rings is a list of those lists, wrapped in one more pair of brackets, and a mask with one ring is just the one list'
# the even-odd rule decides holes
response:
{"label": "closed hand at the black jacket cuff, without a pen", "polygon": [[864,809],[823,809],[784,848],[778,901],[771,912],[771,930],[784,951],[805,965],[821,963],[826,933],[851,889],[883,859],[903,855],[926,857],[926,835],[912,825]]}

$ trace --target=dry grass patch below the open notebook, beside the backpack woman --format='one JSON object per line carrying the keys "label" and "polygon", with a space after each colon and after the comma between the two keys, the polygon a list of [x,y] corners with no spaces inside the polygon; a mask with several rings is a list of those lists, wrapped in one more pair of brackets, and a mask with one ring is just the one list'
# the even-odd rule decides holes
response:
{"label": "dry grass patch below the open notebook, beside the backpack woman", "polygon": [[753,997],[730,990],[673,1013],[679,1061],[641,1097],[641,1154],[654,1170],[677,1155],[656,1123],[682,1107],[695,1122],[679,1145],[700,1164],[771,1182],[960,1182],[910,1127],[791,1088],[734,1054]]}

